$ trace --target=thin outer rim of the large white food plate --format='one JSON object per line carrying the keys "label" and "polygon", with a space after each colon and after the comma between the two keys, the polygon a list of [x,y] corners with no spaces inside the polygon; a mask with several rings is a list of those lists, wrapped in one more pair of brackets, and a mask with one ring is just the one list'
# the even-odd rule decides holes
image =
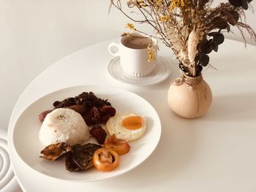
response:
{"label": "thin outer rim of the large white food plate", "polygon": [[[145,157],[143,158],[143,161],[140,161],[137,165],[133,166],[132,168],[128,169],[127,171],[124,171],[124,172],[121,172],[121,173],[118,173],[118,174],[115,174],[115,175],[110,175],[110,176],[106,176],[106,177],[101,177],[99,179],[91,179],[91,180],[69,180],[69,179],[65,179],[65,178],[60,178],[60,177],[54,177],[53,175],[50,175],[50,174],[45,174],[45,173],[42,173],[42,172],[39,172],[39,170],[37,169],[34,169],[33,167],[29,166],[29,164],[26,163],[26,161],[18,154],[18,151],[16,150],[16,146],[15,146],[15,138],[14,138],[14,132],[15,132],[15,127],[18,123],[18,121],[20,120],[20,118],[22,118],[22,115],[25,111],[29,110],[29,108],[37,101],[39,101],[40,99],[43,99],[47,96],[49,96],[50,94],[53,94],[53,93],[56,93],[56,92],[59,92],[59,91],[65,91],[65,90],[69,90],[69,89],[78,89],[78,88],[94,88],[96,87],[97,89],[99,89],[100,87],[104,87],[104,88],[114,88],[118,91],[124,91],[124,92],[127,92],[129,94],[132,94],[134,96],[137,96],[139,97],[140,99],[143,99],[144,101],[146,101],[146,103],[148,103],[148,105],[152,108],[152,110],[154,111],[154,113],[157,115],[156,118],[157,118],[157,126],[159,125],[159,127],[157,128],[159,131],[158,131],[158,139],[155,140],[155,145],[153,147],[153,149],[151,150],[151,152]],[[108,95],[108,93],[106,93]],[[158,115],[158,112],[157,110],[155,110],[155,108],[146,100],[144,99],[142,96],[139,96],[138,94],[136,93],[133,93],[132,91],[128,91],[127,89],[124,89],[124,88],[117,88],[117,87],[114,87],[114,86],[109,86],[109,85],[97,85],[97,84],[86,84],[86,85],[75,85],[75,86],[69,86],[69,87],[66,87],[66,88],[60,88],[60,89],[56,89],[55,91],[52,91],[50,93],[46,93],[45,95],[43,96],[40,96],[38,99],[35,99],[34,101],[31,102],[31,104],[29,104],[25,110],[23,110],[23,112],[20,113],[20,115],[18,116],[17,120],[15,120],[15,124],[12,128],[12,131],[11,131],[11,137],[12,137],[12,146],[13,146],[13,151],[15,153],[15,156],[18,157],[20,159],[20,161],[22,161],[22,163],[29,167],[29,169],[31,169],[34,173],[36,174],[39,174],[40,176],[42,177],[48,177],[50,179],[54,179],[54,180],[62,180],[62,181],[67,181],[67,182],[74,182],[74,183],[86,183],[86,182],[94,182],[94,181],[99,181],[99,180],[106,180],[106,179],[109,179],[109,178],[113,178],[113,177],[118,177],[120,176],[121,174],[125,174],[127,172],[130,172],[132,169],[135,169],[136,167],[138,167],[140,164],[142,164],[144,161],[146,161],[146,159],[148,159],[152,153],[154,153],[154,150],[156,150],[157,148],[157,145],[159,144],[159,140],[160,138],[162,137],[162,123],[161,123],[161,120],[159,118],[159,115]],[[103,173],[104,174],[104,173]]]}

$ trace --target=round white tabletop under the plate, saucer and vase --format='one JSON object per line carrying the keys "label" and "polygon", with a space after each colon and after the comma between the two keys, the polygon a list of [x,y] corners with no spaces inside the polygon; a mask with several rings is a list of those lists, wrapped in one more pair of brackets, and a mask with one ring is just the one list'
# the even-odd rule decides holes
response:
{"label": "round white tabletop under the plate, saucer and vase", "polygon": [[[10,159],[23,191],[256,191],[256,47],[225,40],[203,77],[213,102],[202,118],[186,120],[167,104],[170,77],[157,85],[136,87],[114,80],[107,72],[111,55],[102,42],[72,53],[53,64],[23,91],[9,126]],[[170,50],[159,55],[171,59]],[[28,69],[29,70],[29,69]],[[49,180],[26,168],[12,145],[11,131],[21,112],[47,93],[73,85],[111,85],[143,96],[157,110],[162,137],[140,166],[108,180],[71,183]]]}

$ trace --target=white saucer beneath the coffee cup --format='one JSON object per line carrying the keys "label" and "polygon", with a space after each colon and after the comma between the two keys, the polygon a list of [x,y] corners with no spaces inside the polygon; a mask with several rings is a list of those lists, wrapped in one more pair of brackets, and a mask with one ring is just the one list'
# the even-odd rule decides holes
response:
{"label": "white saucer beneath the coffee cup", "polygon": [[108,64],[108,73],[114,79],[128,84],[140,86],[154,85],[169,77],[171,71],[170,64],[164,62],[162,58],[158,58],[156,63],[153,72],[146,77],[132,77],[124,72],[120,65],[120,57],[116,57]]}

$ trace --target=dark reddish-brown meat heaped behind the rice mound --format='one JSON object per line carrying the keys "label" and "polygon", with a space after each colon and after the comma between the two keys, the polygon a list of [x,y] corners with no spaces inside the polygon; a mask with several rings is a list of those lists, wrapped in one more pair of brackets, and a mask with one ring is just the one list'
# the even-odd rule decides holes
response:
{"label": "dark reddish-brown meat heaped behind the rice mound", "polygon": [[[108,100],[100,99],[92,92],[83,92],[78,96],[69,97],[63,101],[55,101],[54,109],[69,108],[75,110],[86,121],[88,126],[106,123],[108,119],[116,114]],[[45,116],[52,110],[46,110],[39,114],[39,120],[43,122]]]}

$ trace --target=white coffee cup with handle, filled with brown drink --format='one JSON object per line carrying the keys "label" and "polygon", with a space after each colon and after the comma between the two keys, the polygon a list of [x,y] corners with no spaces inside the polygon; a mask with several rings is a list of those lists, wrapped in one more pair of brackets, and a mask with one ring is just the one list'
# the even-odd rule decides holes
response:
{"label": "white coffee cup with handle, filled with brown drink", "polygon": [[[148,61],[147,47],[150,43],[150,38],[134,33],[121,37],[119,43],[111,42],[108,51],[113,56],[120,56],[120,64],[125,73],[132,77],[144,77],[153,71],[156,60]],[[154,55],[156,58],[156,51]]]}

